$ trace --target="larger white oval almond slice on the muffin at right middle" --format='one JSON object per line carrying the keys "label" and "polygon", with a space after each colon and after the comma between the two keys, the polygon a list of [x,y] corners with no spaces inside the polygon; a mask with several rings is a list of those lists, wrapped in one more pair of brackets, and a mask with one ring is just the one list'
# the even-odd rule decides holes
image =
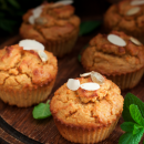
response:
{"label": "larger white oval almond slice on the muffin at right middle", "polygon": [[111,43],[119,45],[119,47],[125,47],[126,45],[126,42],[122,38],[120,38],[119,35],[115,35],[115,34],[109,34],[107,40]]}

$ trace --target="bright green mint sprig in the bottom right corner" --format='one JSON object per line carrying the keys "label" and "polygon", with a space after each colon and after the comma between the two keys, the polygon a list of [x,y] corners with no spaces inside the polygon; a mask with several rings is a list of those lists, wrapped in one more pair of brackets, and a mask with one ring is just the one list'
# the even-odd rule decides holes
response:
{"label": "bright green mint sprig in the bottom right corner", "polygon": [[132,93],[127,93],[122,115],[125,122],[121,128],[125,133],[120,137],[119,144],[138,144],[144,134],[144,103]]}

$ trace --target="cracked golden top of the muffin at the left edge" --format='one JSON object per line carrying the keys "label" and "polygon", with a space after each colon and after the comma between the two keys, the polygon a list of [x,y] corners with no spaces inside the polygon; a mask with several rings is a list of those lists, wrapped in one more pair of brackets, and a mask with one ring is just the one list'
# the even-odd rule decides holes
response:
{"label": "cracked golden top of the muffin at the left edge", "polygon": [[48,61],[42,62],[33,50],[10,45],[0,50],[0,86],[6,89],[37,89],[49,84],[56,76],[56,59],[44,51]]}

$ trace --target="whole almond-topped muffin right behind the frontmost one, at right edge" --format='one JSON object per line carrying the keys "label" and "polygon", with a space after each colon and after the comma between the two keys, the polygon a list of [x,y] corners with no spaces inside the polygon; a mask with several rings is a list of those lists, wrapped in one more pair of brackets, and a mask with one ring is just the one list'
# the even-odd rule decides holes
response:
{"label": "whole almond-topped muffin right behind the frontmost one, at right edge", "polygon": [[85,71],[97,71],[121,89],[134,88],[143,75],[144,47],[123,32],[97,34],[82,53]]}

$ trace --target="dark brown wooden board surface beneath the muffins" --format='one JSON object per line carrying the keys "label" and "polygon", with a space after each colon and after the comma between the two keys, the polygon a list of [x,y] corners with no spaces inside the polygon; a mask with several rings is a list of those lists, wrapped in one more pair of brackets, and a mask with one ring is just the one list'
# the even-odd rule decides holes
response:
{"label": "dark brown wooden board surface beneath the muffins", "polygon": [[[86,4],[86,2],[85,4],[82,4],[83,9],[88,7]],[[101,7],[96,7],[96,4],[91,4],[91,9],[89,8],[90,13],[93,13],[95,11],[95,13],[97,14],[93,13],[90,16],[88,14],[88,11],[85,11],[85,13],[83,14],[81,13],[81,11],[79,11],[78,13],[80,13],[82,20],[102,19],[102,14],[106,10],[106,6],[103,7],[102,2],[100,2],[100,4]],[[97,9],[94,10],[94,8]],[[51,100],[54,91],[60,88],[64,82],[66,82],[69,78],[78,78],[80,73],[84,72],[84,69],[78,61],[78,54],[81,52],[82,48],[88,44],[90,39],[92,39],[97,32],[101,31],[100,29],[102,30],[102,28],[99,28],[91,34],[80,37],[73,51],[70,54],[58,59],[59,72],[53,91],[48,99]],[[2,49],[4,45],[14,44],[19,40],[20,37],[16,35],[2,43],[0,45],[0,49]],[[144,76],[142,78],[137,86],[132,90],[123,91],[122,95],[125,96],[127,92],[132,92],[142,101],[144,101]],[[32,110],[33,106],[28,109],[19,109],[17,106],[9,106],[8,104],[4,104],[2,101],[0,101],[0,144],[72,144],[60,135],[56,126],[54,125],[52,116],[45,120],[38,121],[32,117]],[[123,134],[123,131],[120,128],[120,124],[122,123],[123,119],[121,117],[111,136],[100,144],[117,144],[120,136]]]}

